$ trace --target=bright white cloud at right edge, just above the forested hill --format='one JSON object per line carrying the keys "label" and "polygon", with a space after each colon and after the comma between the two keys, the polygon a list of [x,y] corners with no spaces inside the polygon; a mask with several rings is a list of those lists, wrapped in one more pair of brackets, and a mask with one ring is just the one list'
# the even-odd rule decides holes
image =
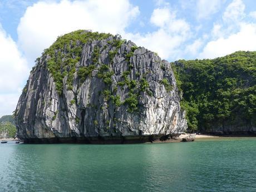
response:
{"label": "bright white cloud at right edge, just above the forested hill", "polygon": [[199,58],[215,58],[228,55],[235,51],[256,50],[256,24],[240,23],[240,31],[227,38],[210,41],[204,47]]}

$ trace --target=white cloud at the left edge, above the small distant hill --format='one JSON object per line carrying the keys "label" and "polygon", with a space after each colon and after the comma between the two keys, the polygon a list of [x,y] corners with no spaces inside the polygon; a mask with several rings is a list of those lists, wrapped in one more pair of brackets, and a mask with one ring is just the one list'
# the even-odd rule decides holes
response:
{"label": "white cloud at the left edge, above the small distant hill", "polygon": [[0,116],[16,107],[21,88],[28,77],[27,62],[16,43],[0,24]]}

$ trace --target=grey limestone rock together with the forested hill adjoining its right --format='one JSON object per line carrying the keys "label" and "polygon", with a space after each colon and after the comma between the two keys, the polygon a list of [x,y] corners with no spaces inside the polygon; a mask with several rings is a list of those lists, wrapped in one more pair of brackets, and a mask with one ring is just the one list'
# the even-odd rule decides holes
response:
{"label": "grey limestone rock together with the forested hill adjoining its right", "polygon": [[37,58],[17,109],[25,142],[126,143],[255,134],[256,52],[167,62],[119,35],[75,31]]}

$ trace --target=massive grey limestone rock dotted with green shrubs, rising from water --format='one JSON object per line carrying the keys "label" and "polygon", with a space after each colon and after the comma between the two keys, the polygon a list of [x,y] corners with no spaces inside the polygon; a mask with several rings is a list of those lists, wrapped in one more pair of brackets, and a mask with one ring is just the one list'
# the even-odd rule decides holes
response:
{"label": "massive grey limestone rock dotted with green shrubs, rising from water", "polygon": [[37,59],[18,101],[27,142],[144,142],[183,132],[167,61],[119,36],[76,31]]}

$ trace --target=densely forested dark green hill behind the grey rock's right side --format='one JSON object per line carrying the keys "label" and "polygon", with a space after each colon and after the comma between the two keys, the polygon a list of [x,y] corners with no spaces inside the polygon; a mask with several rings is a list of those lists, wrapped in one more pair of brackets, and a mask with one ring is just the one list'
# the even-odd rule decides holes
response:
{"label": "densely forested dark green hill behind the grey rock's right side", "polygon": [[256,132],[256,52],[171,63],[190,130]]}

